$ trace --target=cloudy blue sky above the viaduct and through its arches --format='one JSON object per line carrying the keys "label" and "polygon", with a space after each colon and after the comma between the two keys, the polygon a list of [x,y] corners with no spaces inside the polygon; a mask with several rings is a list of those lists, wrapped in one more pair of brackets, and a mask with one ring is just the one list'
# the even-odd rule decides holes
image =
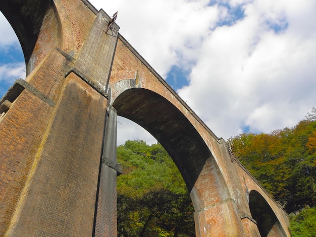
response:
{"label": "cloudy blue sky above the viaduct and through its arches", "polygon": [[[218,137],[292,127],[316,104],[316,1],[90,2],[119,11],[120,33]],[[25,75],[6,24],[0,17],[0,95]],[[119,121],[118,144],[154,142]]]}

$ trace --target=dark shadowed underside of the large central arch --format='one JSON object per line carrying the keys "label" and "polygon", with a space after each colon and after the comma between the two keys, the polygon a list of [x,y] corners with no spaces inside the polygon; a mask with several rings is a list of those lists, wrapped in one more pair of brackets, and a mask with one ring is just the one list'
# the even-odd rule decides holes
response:
{"label": "dark shadowed underside of the large central arch", "polygon": [[113,107],[118,115],[134,121],[163,145],[191,192],[212,154],[185,115],[161,95],[142,88],[123,92]]}

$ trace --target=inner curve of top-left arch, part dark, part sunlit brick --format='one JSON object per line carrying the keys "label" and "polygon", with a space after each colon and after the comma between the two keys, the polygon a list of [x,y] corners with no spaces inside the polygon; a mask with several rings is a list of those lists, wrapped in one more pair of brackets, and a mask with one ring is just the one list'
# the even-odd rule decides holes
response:
{"label": "inner curve of top-left arch, part dark, part sunlit brick", "polygon": [[0,10],[20,41],[26,76],[54,49],[71,55],[76,52],[71,23],[61,0],[4,0]]}

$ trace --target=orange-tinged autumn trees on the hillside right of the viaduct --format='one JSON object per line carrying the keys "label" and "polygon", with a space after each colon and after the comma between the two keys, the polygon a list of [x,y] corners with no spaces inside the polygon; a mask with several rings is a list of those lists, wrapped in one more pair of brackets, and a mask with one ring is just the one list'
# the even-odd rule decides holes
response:
{"label": "orange-tinged autumn trees on the hillside right of the viaduct", "polygon": [[288,212],[316,198],[316,109],[295,127],[230,139],[235,155]]}

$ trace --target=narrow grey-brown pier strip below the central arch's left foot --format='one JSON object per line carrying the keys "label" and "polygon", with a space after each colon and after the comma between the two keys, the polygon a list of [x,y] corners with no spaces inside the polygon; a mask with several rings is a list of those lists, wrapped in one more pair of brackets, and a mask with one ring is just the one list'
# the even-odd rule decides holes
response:
{"label": "narrow grey-brown pier strip below the central arch's left foot", "polygon": [[121,173],[121,167],[116,163],[117,113],[111,107],[108,109],[106,116],[94,236],[117,236],[117,175]]}

